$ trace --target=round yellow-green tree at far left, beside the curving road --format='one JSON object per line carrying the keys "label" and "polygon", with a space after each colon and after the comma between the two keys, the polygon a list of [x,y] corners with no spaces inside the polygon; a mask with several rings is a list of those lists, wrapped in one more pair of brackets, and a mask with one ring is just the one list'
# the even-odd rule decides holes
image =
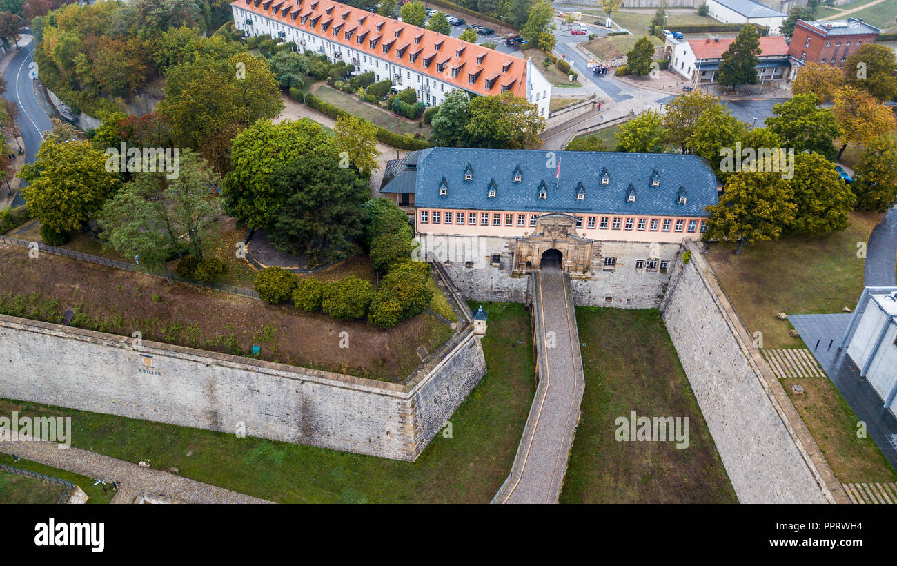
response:
{"label": "round yellow-green tree at far left, beside the curving road", "polygon": [[118,173],[106,168],[106,155],[90,142],[53,137],[18,177],[28,182],[22,196],[30,215],[60,234],[81,228],[121,186]]}

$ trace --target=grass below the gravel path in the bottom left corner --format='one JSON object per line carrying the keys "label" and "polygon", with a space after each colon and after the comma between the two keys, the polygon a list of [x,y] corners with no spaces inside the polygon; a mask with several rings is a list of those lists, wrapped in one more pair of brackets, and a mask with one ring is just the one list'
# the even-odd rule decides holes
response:
{"label": "grass below the gravel path in the bottom left corner", "polygon": [[[8,414],[5,413],[4,414]],[[19,458],[16,462],[9,454],[0,453],[0,464],[17,467],[29,472],[49,475],[60,480],[74,483],[87,495],[88,503],[109,503],[115,496],[109,485],[103,492],[101,485],[94,485],[96,480],[90,477],[74,474],[67,470],[45,466],[38,462],[31,462]],[[65,488],[56,483],[46,483],[22,475],[0,472],[0,504],[7,503],[56,503]]]}

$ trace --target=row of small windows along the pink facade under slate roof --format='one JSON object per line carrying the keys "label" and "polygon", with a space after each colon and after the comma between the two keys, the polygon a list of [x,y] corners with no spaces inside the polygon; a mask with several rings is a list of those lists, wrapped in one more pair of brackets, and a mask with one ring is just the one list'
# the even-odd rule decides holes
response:
{"label": "row of small windows along the pink facade under slate roof", "polygon": [[[432,213],[432,214],[431,214]],[[536,218],[538,218],[539,214],[530,214],[528,226],[530,228],[536,227]],[[521,213],[464,213],[464,212],[454,212],[454,211],[427,211],[422,210],[420,212],[420,221],[422,224],[455,224],[455,225],[463,225],[468,224],[470,226],[476,226],[477,221],[479,221],[480,226],[507,226],[514,227],[515,225],[518,228],[526,228],[527,227],[527,214]],[[620,230],[623,227],[623,230],[639,230],[639,231],[665,231],[668,232],[671,229],[673,231],[681,232],[685,229],[685,220],[682,218],[675,219],[675,224],[673,223],[673,219],[671,218],[631,218],[631,217],[623,217],[623,216],[588,216],[576,217],[576,227],[582,228],[582,223],[586,222],[586,228],[588,230],[595,230],[597,225],[598,230],[607,230],[610,227],[610,230]],[[700,222],[700,230],[707,230],[706,222],[698,221],[696,219],[691,219],[688,221],[688,229],[687,231],[694,232],[698,231]]]}

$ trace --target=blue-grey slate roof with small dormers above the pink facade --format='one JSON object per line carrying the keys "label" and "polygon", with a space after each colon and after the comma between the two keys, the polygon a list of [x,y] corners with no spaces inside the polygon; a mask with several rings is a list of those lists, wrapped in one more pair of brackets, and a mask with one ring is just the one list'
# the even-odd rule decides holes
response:
{"label": "blue-grey slate roof with small dormers above the pink facade", "polygon": [[[561,174],[555,180],[558,160]],[[468,165],[470,181],[464,180]],[[518,168],[519,183],[514,182]],[[651,187],[655,173],[660,185]],[[605,174],[609,183],[602,185]],[[383,192],[404,192],[412,175],[418,208],[702,217],[707,216],[705,206],[718,203],[716,176],[694,155],[434,147],[418,152],[416,170],[399,175]],[[443,179],[446,196],[440,196]],[[576,198],[580,185],[583,200]],[[495,187],[493,198],[490,186]],[[547,198],[538,197],[540,190]],[[627,192],[633,190],[635,202],[627,202]],[[678,204],[682,191],[684,205]]]}

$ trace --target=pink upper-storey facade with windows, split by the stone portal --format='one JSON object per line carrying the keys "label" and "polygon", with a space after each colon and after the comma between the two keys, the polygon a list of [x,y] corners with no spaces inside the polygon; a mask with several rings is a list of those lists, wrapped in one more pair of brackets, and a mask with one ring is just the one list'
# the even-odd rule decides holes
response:
{"label": "pink upper-storey facade with windows, split by the stone portal", "polygon": [[[494,236],[518,238],[530,235],[543,213],[418,208],[414,230],[421,234]],[[625,214],[568,213],[581,219],[580,237],[615,241],[679,243],[700,239],[704,218],[639,216]],[[472,222],[473,221],[473,222]]]}

